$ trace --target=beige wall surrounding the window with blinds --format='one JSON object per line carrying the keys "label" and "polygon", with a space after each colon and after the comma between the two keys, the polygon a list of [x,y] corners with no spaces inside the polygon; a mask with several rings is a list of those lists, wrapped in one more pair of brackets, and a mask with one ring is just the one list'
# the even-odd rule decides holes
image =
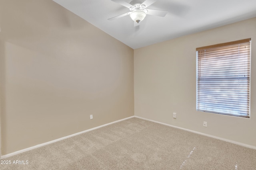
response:
{"label": "beige wall surrounding the window with blinds", "polygon": [[[252,38],[250,119],[196,111],[196,47],[246,38]],[[256,147],[256,18],[134,50],[134,112]]]}

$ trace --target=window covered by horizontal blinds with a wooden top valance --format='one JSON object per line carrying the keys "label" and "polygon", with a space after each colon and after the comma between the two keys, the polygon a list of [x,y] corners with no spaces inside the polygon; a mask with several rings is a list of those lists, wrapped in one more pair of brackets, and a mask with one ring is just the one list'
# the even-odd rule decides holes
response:
{"label": "window covered by horizontal blinds with a wooden top valance", "polygon": [[250,40],[196,49],[196,110],[250,116]]}

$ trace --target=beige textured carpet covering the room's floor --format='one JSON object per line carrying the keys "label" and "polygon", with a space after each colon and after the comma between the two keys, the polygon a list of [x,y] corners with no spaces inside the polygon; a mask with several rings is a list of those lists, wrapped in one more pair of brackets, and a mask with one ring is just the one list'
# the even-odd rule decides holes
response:
{"label": "beige textured carpet covering the room's floor", "polygon": [[4,160],[1,170],[256,170],[254,149],[138,118]]}

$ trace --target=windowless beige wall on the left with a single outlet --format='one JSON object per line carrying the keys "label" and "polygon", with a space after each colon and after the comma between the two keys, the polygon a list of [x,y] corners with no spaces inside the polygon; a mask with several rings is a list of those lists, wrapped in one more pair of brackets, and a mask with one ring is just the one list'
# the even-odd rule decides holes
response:
{"label": "windowless beige wall on the left with a single outlet", "polygon": [[134,115],[133,49],[52,0],[0,17],[2,154]]}

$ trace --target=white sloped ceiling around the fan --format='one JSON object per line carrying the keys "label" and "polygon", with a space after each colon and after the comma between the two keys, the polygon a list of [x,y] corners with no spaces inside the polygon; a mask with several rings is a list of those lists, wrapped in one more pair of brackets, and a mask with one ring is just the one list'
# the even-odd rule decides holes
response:
{"label": "white sloped ceiling around the fan", "polygon": [[108,20],[130,12],[111,0],[53,1],[133,49],[256,17],[256,0],[157,0],[148,9],[166,10],[167,15],[147,15],[134,27],[129,15]]}

